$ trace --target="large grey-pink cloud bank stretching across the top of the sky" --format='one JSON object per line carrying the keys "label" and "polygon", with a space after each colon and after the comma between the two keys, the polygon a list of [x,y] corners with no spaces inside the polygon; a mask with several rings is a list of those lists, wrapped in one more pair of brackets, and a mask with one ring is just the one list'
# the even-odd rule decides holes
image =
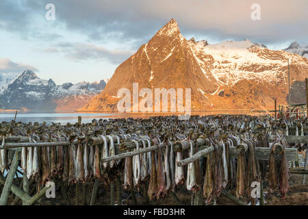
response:
{"label": "large grey-pink cloud bank stretching across the top of the sky", "polygon": [[[18,3],[16,3],[16,1]],[[53,28],[31,25],[43,22],[45,5],[55,4],[55,21],[61,26],[101,42],[118,40],[134,49],[146,42],[166,22],[175,17],[185,36],[209,36],[217,40],[242,40],[270,44],[308,41],[307,0],[1,0],[0,27],[11,31],[48,37]],[[261,21],[252,21],[251,5],[261,6]],[[2,9],[1,9],[2,8]],[[3,13],[3,14],[2,14]],[[50,32],[51,31],[51,32]],[[40,36],[42,35],[42,36]]]}

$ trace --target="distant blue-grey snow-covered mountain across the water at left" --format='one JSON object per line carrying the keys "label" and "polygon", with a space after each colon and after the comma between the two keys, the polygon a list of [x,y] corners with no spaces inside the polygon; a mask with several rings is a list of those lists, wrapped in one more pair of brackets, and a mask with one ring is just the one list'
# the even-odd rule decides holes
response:
{"label": "distant blue-grey snow-covered mountain across the water at left", "polygon": [[25,70],[6,88],[0,90],[0,108],[9,110],[77,110],[94,95],[99,94],[106,83],[64,83],[56,85],[52,79],[40,79],[33,71]]}

